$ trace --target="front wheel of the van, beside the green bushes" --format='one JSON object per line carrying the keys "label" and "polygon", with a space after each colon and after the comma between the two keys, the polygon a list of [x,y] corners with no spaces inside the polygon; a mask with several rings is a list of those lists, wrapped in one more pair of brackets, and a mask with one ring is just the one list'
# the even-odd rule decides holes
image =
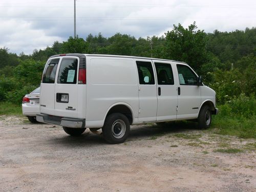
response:
{"label": "front wheel of the van, beside the green bushes", "polygon": [[198,115],[199,129],[207,129],[211,123],[211,111],[208,105],[202,106]]}

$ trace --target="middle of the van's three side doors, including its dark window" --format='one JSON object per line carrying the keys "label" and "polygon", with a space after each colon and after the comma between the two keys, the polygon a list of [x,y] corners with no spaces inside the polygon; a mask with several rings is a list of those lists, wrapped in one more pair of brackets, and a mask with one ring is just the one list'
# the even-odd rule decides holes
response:
{"label": "middle of the van's three side doors, including its dark window", "polygon": [[178,93],[173,69],[167,61],[154,60],[157,75],[157,121],[174,120],[177,115]]}

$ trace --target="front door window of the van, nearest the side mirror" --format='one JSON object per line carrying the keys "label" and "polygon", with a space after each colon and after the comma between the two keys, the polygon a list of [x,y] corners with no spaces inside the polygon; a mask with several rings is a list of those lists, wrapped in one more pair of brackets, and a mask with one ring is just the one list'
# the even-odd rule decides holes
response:
{"label": "front door window of the van, nearest the side mirror", "polygon": [[177,70],[179,74],[180,84],[187,86],[196,86],[197,85],[197,76],[196,74],[185,65],[177,65]]}

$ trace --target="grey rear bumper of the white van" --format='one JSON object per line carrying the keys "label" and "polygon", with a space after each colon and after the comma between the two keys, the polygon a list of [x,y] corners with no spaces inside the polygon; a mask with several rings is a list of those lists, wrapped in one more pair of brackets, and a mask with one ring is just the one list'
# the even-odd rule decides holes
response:
{"label": "grey rear bumper of the white van", "polygon": [[56,124],[60,126],[66,126],[70,128],[84,128],[86,127],[86,119],[76,119],[68,117],[59,117],[47,114],[36,114],[36,120],[38,122],[47,124]]}

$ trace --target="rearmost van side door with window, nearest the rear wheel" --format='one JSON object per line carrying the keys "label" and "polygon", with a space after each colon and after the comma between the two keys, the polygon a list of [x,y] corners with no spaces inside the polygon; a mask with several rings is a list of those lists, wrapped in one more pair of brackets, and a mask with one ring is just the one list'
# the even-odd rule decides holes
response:
{"label": "rearmost van side door with window, nearest the rear wheel", "polygon": [[152,61],[136,59],[139,80],[139,114],[138,122],[156,121],[157,88]]}

